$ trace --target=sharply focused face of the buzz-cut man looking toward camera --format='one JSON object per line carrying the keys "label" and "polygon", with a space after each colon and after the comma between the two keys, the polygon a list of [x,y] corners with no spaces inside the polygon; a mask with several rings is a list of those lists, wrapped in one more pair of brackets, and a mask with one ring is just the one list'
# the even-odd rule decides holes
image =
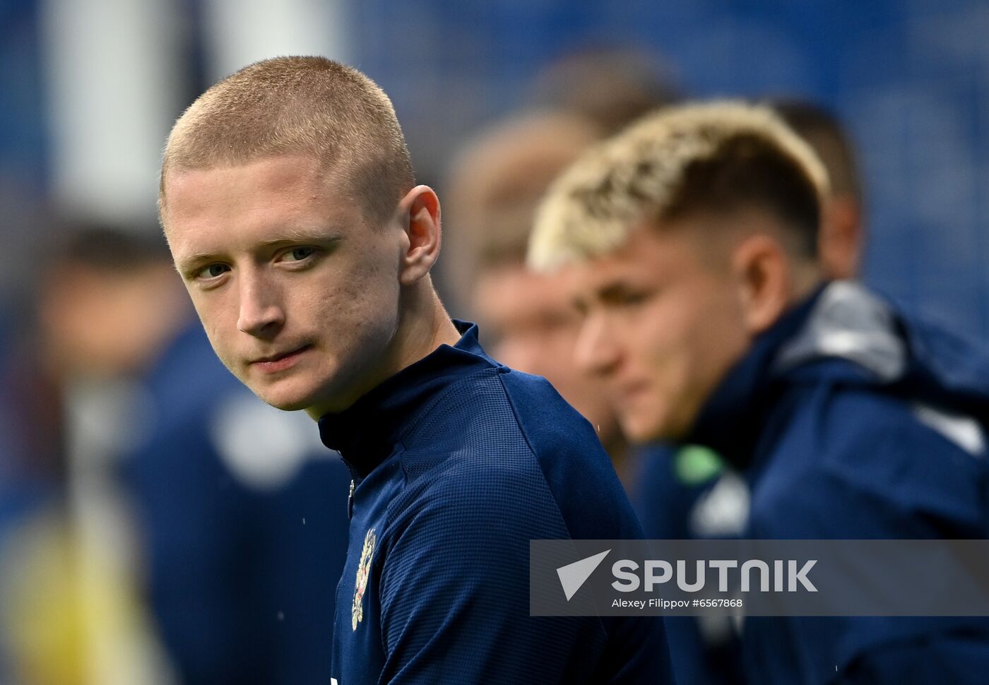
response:
{"label": "sharply focused face of the buzz-cut man looking toward camera", "polygon": [[372,225],[314,159],[172,171],[165,232],[217,355],[258,396],[314,416],[397,369],[404,235]]}

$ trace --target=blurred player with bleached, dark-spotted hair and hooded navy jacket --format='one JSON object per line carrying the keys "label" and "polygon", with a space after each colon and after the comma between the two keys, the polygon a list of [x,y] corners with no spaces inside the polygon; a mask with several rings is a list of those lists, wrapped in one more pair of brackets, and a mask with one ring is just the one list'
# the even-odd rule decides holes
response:
{"label": "blurred player with bleached, dark-spotted hair and hooded navy jacket", "polygon": [[[573,279],[578,358],[627,435],[744,474],[745,536],[984,538],[989,361],[826,282],[827,193],[770,110],[673,108],[554,184],[529,259]],[[984,618],[750,618],[742,644],[758,683],[976,683],[989,665]]]}

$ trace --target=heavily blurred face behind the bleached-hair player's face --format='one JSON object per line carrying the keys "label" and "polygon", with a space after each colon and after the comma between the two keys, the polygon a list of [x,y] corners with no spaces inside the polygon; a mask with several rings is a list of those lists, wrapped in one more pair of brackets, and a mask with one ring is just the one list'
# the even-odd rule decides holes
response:
{"label": "heavily blurred face behind the bleached-hair player's face", "polygon": [[615,437],[601,382],[574,362],[581,319],[564,279],[522,264],[492,267],[478,276],[474,303],[499,362],[546,378],[598,429],[602,442]]}

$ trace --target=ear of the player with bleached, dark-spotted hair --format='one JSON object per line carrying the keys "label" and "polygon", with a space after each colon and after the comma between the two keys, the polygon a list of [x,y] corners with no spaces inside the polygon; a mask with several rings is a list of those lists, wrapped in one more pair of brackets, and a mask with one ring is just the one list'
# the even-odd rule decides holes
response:
{"label": "ear of the player with bleached, dark-spotted hair", "polygon": [[732,252],[742,314],[750,334],[771,326],[793,297],[793,274],[786,250],[775,238],[757,233]]}

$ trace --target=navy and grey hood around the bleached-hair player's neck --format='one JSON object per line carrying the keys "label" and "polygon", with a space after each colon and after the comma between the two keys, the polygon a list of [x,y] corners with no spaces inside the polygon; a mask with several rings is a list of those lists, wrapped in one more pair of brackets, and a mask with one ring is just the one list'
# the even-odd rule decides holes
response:
{"label": "navy and grey hood around the bleached-hair player's neck", "polygon": [[[737,467],[749,466],[783,387],[800,382],[883,385],[948,406],[953,395],[961,395],[985,408],[984,391],[973,389],[989,378],[989,363],[951,354],[954,349],[967,348],[912,326],[864,286],[826,284],[756,338],[704,404],[687,442],[711,447]],[[945,352],[948,364],[939,361]]]}

